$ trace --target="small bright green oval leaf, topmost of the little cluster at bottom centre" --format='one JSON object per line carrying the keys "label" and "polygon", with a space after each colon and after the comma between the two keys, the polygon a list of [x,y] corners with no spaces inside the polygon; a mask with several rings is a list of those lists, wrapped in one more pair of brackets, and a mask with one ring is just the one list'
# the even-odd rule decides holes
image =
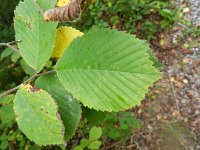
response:
{"label": "small bright green oval leaf, topmost of the little cluster at bottom centre", "polygon": [[100,127],[93,127],[89,133],[89,140],[94,141],[98,140],[102,136],[102,129]]}

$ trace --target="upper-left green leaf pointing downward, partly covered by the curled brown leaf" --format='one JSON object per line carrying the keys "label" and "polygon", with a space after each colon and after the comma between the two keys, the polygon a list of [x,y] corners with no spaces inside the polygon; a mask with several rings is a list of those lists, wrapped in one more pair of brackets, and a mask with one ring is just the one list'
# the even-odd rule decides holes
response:
{"label": "upper-left green leaf pointing downward, partly covered by the curled brown leaf", "polygon": [[[45,12],[55,7],[56,0],[38,0]],[[44,22],[34,0],[21,1],[15,10],[14,27],[18,47],[26,63],[40,72],[49,60],[54,46],[56,22]]]}

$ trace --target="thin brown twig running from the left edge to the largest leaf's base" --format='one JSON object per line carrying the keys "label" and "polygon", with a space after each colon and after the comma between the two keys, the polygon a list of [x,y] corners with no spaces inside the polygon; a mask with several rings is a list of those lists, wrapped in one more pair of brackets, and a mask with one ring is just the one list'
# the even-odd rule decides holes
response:
{"label": "thin brown twig running from the left edge to the largest leaf's base", "polygon": [[20,85],[18,85],[18,86],[16,86],[16,87],[14,87],[14,88],[12,88],[12,89],[10,89],[10,90],[8,90],[8,91],[2,93],[2,94],[0,95],[0,99],[3,98],[3,97],[6,96],[6,95],[12,93],[12,92],[17,91],[17,90],[20,88],[20,86],[21,86],[22,84],[26,84],[26,83],[28,83],[28,82],[34,80],[34,79],[37,78],[37,77],[40,77],[40,76],[46,75],[46,74],[51,74],[51,73],[55,73],[55,70],[50,70],[50,71],[47,71],[47,72],[44,72],[44,73],[40,73],[40,74],[35,74],[35,75],[33,75],[32,77],[30,77],[29,79],[27,79],[26,81],[24,81],[23,83],[21,83]]}

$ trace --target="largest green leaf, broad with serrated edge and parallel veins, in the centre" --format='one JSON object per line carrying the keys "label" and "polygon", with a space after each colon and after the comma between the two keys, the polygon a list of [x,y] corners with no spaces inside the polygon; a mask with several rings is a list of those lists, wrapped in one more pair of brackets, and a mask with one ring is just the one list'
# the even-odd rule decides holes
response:
{"label": "largest green leaf, broad with serrated edge and parallel veins, in the centre", "polygon": [[65,50],[56,70],[83,105],[120,111],[139,105],[162,74],[149,60],[148,45],[130,34],[93,28]]}

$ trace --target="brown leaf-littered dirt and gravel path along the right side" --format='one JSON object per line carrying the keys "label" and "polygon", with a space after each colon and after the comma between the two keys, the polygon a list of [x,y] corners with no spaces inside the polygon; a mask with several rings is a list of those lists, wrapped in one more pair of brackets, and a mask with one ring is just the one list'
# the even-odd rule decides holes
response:
{"label": "brown leaf-littered dirt and gravel path along the right side", "polygon": [[[177,1],[190,5],[185,17],[200,26],[200,0]],[[143,129],[132,137],[134,149],[200,150],[200,47],[186,48],[181,23],[152,45],[165,64],[164,77],[152,88],[142,105],[133,112],[144,122]]]}

